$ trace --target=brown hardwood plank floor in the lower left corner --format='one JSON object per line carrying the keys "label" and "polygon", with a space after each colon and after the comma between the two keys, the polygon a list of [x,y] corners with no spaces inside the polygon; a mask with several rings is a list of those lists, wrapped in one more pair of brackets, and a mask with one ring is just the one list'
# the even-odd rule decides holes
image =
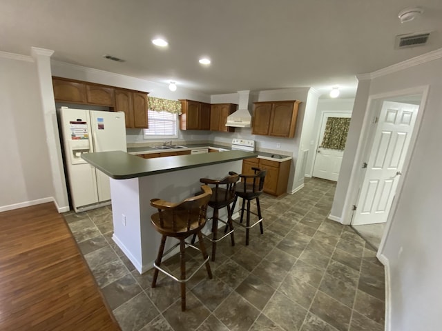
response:
{"label": "brown hardwood plank floor in the lower left corner", "polygon": [[0,330],[121,330],[53,203],[0,213]]}

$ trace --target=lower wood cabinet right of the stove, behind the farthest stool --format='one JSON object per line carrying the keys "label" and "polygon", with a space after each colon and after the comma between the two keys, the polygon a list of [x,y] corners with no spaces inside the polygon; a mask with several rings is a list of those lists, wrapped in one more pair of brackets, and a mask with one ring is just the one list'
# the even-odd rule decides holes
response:
{"label": "lower wood cabinet right of the stove, behind the farthest stool", "polygon": [[253,174],[252,168],[266,169],[264,192],[279,197],[287,192],[291,160],[278,162],[266,159],[244,159],[242,161],[242,174]]}

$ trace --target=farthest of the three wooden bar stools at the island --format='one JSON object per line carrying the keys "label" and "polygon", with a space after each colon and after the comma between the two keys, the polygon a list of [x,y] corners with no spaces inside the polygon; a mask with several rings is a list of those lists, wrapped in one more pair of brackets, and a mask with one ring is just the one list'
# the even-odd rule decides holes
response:
{"label": "farthest of the three wooden bar stools at the island", "polygon": [[[253,228],[256,224],[259,223],[261,234],[264,233],[264,229],[262,228],[262,215],[261,215],[261,206],[260,206],[260,195],[262,194],[262,189],[264,188],[264,180],[265,175],[267,174],[267,170],[261,170],[260,168],[252,168],[255,174],[240,174],[240,179],[242,182],[236,185],[235,199],[233,200],[232,210],[235,209],[236,201],[238,197],[242,198],[242,208],[240,222],[236,222],[239,225],[246,228],[246,245],[249,245],[249,232],[250,229]],[[229,174],[233,174],[233,172],[229,172]],[[256,207],[258,208],[258,214],[255,212],[251,212],[250,210],[250,201],[256,199]],[[247,208],[245,207],[245,201],[247,200]],[[244,210],[247,211],[246,216],[246,225],[242,223],[242,219],[244,218]],[[258,216],[258,221],[250,225],[250,214],[254,214]]]}

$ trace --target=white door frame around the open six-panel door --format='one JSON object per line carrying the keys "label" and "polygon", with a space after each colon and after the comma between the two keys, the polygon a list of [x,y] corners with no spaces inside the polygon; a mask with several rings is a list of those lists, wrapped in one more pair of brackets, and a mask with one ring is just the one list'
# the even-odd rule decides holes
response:
{"label": "white door frame around the open six-panel door", "polygon": [[408,167],[410,165],[410,159],[412,154],[414,154],[414,147],[416,143],[416,138],[419,134],[421,128],[421,119],[425,112],[425,103],[427,102],[427,96],[430,86],[416,86],[414,88],[407,88],[404,90],[396,90],[391,92],[385,92],[381,94],[372,94],[368,97],[367,107],[365,110],[365,116],[363,119],[363,126],[361,128],[361,136],[359,137],[358,146],[356,148],[356,154],[354,158],[354,163],[352,167],[352,174],[349,179],[349,186],[347,196],[345,197],[345,203],[343,208],[343,216],[341,218],[344,225],[350,225],[352,221],[352,205],[357,203],[359,198],[359,190],[364,179],[364,172],[362,171],[362,163],[369,157],[370,150],[372,147],[372,141],[374,138],[374,132],[376,132],[377,126],[372,126],[372,121],[376,115],[380,112],[382,101],[385,99],[392,99],[398,97],[406,97],[407,95],[421,94],[421,103],[419,103],[419,112],[416,117],[416,122],[414,123],[414,128],[412,132],[412,137],[410,139],[410,145],[405,156],[405,161],[403,164],[403,175],[399,177],[398,185],[396,188],[396,195],[393,199],[390,212],[385,223],[385,230],[383,237],[381,239],[381,244],[379,245],[378,251],[383,250],[385,245],[385,238],[388,236],[391,228],[392,215],[394,214],[397,202],[401,197],[401,192],[403,188],[403,183],[407,179]]}

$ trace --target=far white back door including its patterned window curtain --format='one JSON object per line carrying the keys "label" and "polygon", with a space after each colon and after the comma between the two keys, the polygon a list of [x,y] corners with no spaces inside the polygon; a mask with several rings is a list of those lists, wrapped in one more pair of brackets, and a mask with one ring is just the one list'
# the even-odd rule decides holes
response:
{"label": "far white back door including its patterned window curtain", "polygon": [[[318,143],[316,145],[313,177],[328,179],[329,181],[338,181],[345,146],[345,141],[342,144],[341,140],[347,139],[350,117],[352,117],[351,112],[323,112],[317,139]],[[340,128],[342,126],[346,126],[347,130]],[[330,139],[330,136],[334,135],[344,137],[337,137],[336,140],[338,140],[338,142],[331,143],[330,140],[332,139]]]}

